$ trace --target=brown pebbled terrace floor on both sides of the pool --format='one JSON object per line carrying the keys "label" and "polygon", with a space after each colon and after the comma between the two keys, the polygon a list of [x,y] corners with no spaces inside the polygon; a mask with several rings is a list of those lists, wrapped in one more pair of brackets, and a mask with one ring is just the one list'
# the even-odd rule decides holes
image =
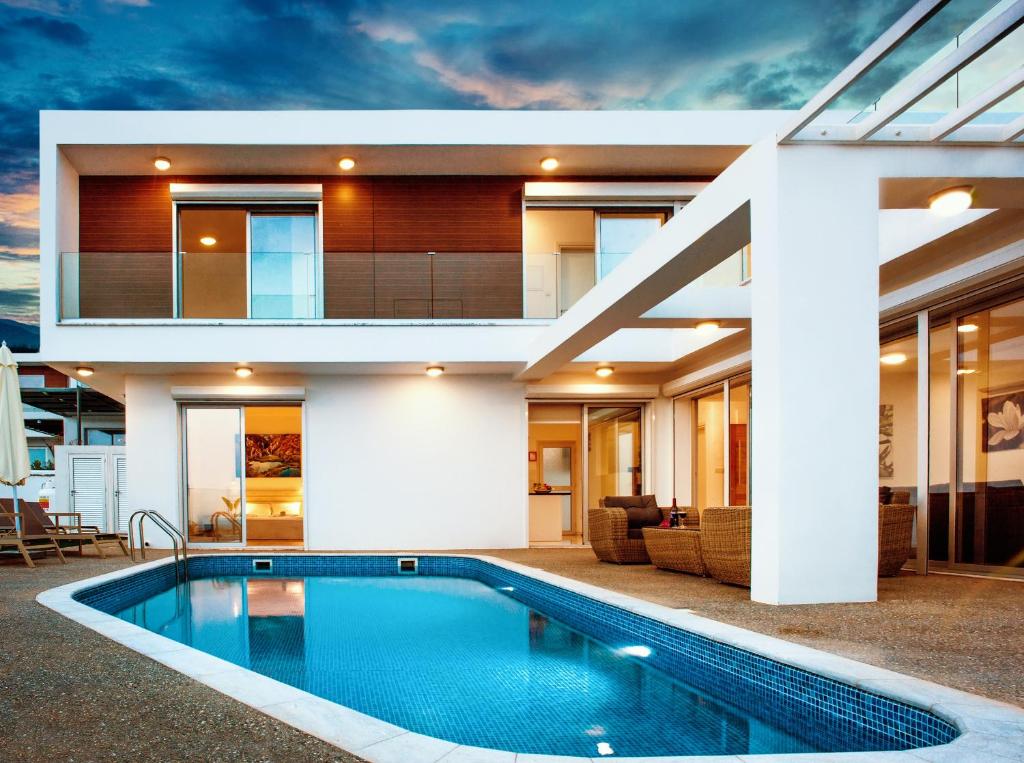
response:
{"label": "brown pebbled terrace floor on both sides of the pool", "polygon": [[[876,603],[778,607],[709,580],[603,564],[589,549],[475,553],[1024,705],[1021,583],[903,576],[880,581]],[[5,760],[359,760],[38,604],[42,590],[128,563],[88,555],[69,562],[48,558],[36,570],[0,562]]]}

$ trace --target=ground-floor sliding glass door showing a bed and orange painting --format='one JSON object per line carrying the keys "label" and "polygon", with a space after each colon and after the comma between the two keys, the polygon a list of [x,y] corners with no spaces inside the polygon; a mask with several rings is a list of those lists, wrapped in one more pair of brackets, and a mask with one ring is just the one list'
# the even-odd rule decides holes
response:
{"label": "ground-floor sliding glass door showing a bed and orange painting", "polygon": [[304,543],[301,404],[182,407],[190,544]]}

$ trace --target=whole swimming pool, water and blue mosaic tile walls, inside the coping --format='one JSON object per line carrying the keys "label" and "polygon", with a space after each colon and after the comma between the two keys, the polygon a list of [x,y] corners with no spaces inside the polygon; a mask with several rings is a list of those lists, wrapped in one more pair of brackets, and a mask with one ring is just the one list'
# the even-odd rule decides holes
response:
{"label": "whole swimming pool, water and blue mosaic tile walls, inside the coping", "polygon": [[[75,598],[454,745],[583,757],[894,751],[947,720],[488,561],[200,556]],[[268,571],[254,562],[270,561]],[[261,565],[262,566],[262,565]],[[127,627],[127,626],[125,626]]]}

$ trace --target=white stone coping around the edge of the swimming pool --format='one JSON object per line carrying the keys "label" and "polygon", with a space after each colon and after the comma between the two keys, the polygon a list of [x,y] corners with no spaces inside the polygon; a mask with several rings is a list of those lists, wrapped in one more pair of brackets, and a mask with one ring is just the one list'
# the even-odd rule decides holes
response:
{"label": "white stone coping around the edge of the swimming pool", "polygon": [[[211,556],[252,556],[225,553]],[[257,556],[297,556],[287,552],[260,552]],[[820,649],[765,636],[719,623],[684,609],[672,609],[633,596],[563,578],[535,567],[492,556],[459,553],[323,553],[316,556],[456,556],[479,559],[505,569],[550,583],[597,601],[657,620],[690,633],[707,636],[740,649],[858,686],[882,696],[927,710],[949,721],[961,735],[939,747],[900,752],[803,753],[784,755],[703,755],[626,758],[578,758],[529,755],[458,745],[409,731],[350,708],[302,691],[259,673],[240,668],[205,651],[178,643],[138,626],[75,601],[76,593],[100,583],[127,578],[145,569],[171,564],[171,558],[137,564],[114,573],[69,583],[40,593],[36,600],[96,633],[144,654],[200,683],[227,694],[371,763],[809,763],[858,761],[866,763],[1000,763],[1024,761],[1024,709],[970,694],[930,681],[911,678],[884,668],[858,663]],[[204,554],[206,556],[206,554]]]}

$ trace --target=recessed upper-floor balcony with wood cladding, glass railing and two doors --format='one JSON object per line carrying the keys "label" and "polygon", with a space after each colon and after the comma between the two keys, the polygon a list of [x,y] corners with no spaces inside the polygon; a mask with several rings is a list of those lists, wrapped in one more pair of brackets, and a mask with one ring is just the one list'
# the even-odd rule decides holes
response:
{"label": "recessed upper-floor balcony with wood cladding, glass railing and two doors", "polygon": [[[464,180],[475,186],[473,198],[458,179],[435,183],[428,189],[456,197],[449,207],[423,194],[423,204],[436,208],[430,219],[407,211],[401,219],[385,215],[386,224],[372,205],[369,224],[351,220],[365,182],[344,194],[311,184],[250,183],[229,192],[172,183],[170,198],[159,200],[173,220],[164,230],[159,217],[143,224],[137,209],[128,214],[153,202],[152,183],[82,178],[79,241],[91,251],[59,253],[58,320],[553,320],[684,213],[686,203],[628,196],[599,205],[579,198],[531,203],[515,180]],[[408,185],[424,187],[416,180]],[[257,192],[270,198],[251,198]],[[342,214],[349,220],[339,231]],[[161,240],[171,246],[153,245]],[[350,248],[334,249],[338,244]],[[398,251],[402,244],[426,251]],[[694,286],[734,287],[749,278],[744,250]]]}

